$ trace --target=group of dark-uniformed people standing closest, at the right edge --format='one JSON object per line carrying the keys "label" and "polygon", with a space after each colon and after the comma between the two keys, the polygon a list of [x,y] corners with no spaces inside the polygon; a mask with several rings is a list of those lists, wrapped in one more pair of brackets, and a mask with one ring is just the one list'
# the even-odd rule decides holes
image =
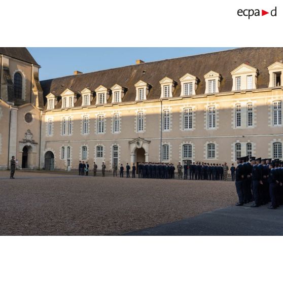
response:
{"label": "group of dark-uniformed people standing closest, at the right edge", "polygon": [[271,201],[270,209],[283,204],[283,161],[279,159],[239,157],[235,172],[237,206],[254,201],[259,207]]}

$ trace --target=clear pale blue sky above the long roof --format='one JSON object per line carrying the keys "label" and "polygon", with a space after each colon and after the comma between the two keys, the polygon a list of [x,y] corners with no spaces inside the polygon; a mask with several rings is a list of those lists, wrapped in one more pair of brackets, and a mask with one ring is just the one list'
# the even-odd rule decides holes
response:
{"label": "clear pale blue sky above the long roof", "polygon": [[89,73],[96,70],[133,65],[136,59],[151,62],[232,48],[233,47],[30,47],[28,50],[33,58],[41,65],[40,80],[47,80],[73,75],[74,70]]}

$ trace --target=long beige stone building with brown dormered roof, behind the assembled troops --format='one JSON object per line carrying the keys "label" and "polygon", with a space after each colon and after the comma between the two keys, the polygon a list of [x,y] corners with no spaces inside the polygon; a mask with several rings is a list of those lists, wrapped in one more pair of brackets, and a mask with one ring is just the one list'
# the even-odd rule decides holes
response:
{"label": "long beige stone building with brown dormered roof, behind the assembled troops", "polygon": [[[281,158],[282,82],[283,48],[137,60],[33,83],[34,101],[7,103],[3,116],[7,121],[14,108],[17,117],[21,113],[14,146],[19,164],[29,129],[30,153],[36,153],[29,165],[45,169],[76,169],[80,160],[91,167],[95,161],[98,168],[104,162],[111,169],[127,162],[231,164],[244,155]],[[24,124],[27,112],[34,128]],[[2,141],[0,154],[7,156],[7,143]]]}

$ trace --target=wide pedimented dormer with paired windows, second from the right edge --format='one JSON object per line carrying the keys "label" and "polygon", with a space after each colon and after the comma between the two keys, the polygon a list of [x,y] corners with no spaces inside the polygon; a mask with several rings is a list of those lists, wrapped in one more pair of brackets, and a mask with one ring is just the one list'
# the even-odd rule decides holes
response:
{"label": "wide pedimented dormer with paired windows, second from the right edge", "polygon": [[256,89],[258,70],[247,64],[241,64],[231,72],[232,91]]}

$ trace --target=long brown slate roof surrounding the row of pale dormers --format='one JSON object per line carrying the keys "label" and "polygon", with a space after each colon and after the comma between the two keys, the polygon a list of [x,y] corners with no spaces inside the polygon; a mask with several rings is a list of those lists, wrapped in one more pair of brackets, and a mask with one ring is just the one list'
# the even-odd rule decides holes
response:
{"label": "long brown slate roof surrounding the row of pale dormers", "polygon": [[[147,100],[150,100],[160,98],[161,88],[159,81],[164,77],[177,82],[173,97],[179,96],[181,93],[179,79],[186,73],[196,76],[200,80],[196,94],[204,94],[205,80],[203,76],[210,70],[222,76],[219,92],[231,91],[232,76],[230,72],[242,63],[257,68],[259,72],[257,88],[267,88],[269,83],[267,67],[275,61],[283,62],[283,48],[237,48],[55,78],[41,81],[41,85],[44,96],[50,92],[59,96],[66,88],[80,92],[85,87],[93,91],[99,85],[110,89],[114,84],[119,84],[126,88],[122,102],[128,102],[135,100],[134,84],[139,80],[143,80],[150,84],[150,91],[147,96]],[[80,101],[81,99],[79,98],[76,104],[79,105]],[[110,101],[111,96],[108,102]],[[95,103],[95,99],[93,103]],[[56,108],[59,107],[60,103],[57,104]]]}

